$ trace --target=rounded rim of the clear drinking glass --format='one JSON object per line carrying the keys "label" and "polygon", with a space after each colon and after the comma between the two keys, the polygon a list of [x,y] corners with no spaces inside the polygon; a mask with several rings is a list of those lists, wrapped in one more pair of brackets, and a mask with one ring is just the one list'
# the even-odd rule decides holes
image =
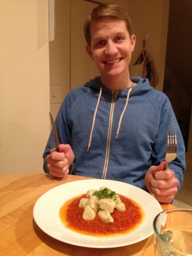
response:
{"label": "rounded rim of the clear drinking glass", "polygon": [[163,237],[161,236],[161,234],[157,230],[156,221],[157,221],[158,217],[161,216],[162,214],[168,214],[168,213],[171,213],[171,212],[188,212],[189,214],[192,215],[192,209],[188,209],[188,208],[173,208],[173,209],[163,210],[163,211],[159,212],[159,214],[155,217],[155,219],[153,221],[153,228],[154,228],[155,234],[161,240],[161,242],[163,242],[163,244],[168,246],[168,248],[174,249],[175,252],[180,253],[180,255],[190,255],[190,254],[187,254],[186,252],[183,252],[183,251],[179,250],[178,248],[174,247],[173,245],[171,245],[167,241],[165,241],[165,239],[163,239]]}

